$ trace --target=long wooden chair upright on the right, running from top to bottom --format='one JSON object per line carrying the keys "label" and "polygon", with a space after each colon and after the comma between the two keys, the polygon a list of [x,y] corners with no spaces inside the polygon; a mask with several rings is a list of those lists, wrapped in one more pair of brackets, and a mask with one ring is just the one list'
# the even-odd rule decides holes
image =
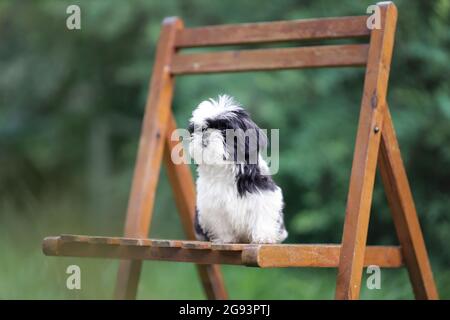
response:
{"label": "long wooden chair upright on the right, running from top to bottom", "polygon": [[[383,107],[391,64],[397,9],[378,4],[381,29],[370,37],[364,92],[353,156],[340,252],[336,299],[358,299],[369,226],[377,156],[383,130]],[[376,130],[378,128],[378,130]]]}

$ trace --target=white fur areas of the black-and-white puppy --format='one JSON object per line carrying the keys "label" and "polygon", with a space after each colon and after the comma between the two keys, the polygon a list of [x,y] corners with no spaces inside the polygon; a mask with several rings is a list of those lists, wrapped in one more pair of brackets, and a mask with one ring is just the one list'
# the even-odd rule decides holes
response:
{"label": "white fur areas of the black-and-white puppy", "polygon": [[[218,101],[208,100],[199,104],[193,112],[191,122],[196,126],[206,119],[227,116],[227,112],[239,105],[228,96]],[[197,210],[200,226],[208,230],[213,242],[279,243],[286,239],[287,232],[280,232],[280,215],[283,196],[277,186],[274,191],[258,190],[240,196],[236,186],[235,164],[221,162],[227,157],[223,137],[218,130],[207,134],[208,144],[202,145],[201,132],[192,134],[189,152],[198,164]],[[265,160],[259,155],[261,172],[268,174]],[[282,218],[282,216],[281,216]]]}

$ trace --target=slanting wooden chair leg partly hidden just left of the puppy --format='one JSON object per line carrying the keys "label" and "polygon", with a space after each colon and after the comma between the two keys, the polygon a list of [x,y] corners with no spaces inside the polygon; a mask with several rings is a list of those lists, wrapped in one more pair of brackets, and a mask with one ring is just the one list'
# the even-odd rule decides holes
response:
{"label": "slanting wooden chair leg partly hidden just left of the puppy", "polygon": [[[172,114],[169,116],[167,125],[164,162],[184,232],[188,239],[196,240],[194,232],[195,187],[191,170],[187,164],[175,164],[171,158],[173,146],[178,143],[178,141],[172,141],[171,139],[172,132],[176,128],[177,125]],[[227,299],[227,292],[219,265],[197,265],[197,270],[208,299]]]}

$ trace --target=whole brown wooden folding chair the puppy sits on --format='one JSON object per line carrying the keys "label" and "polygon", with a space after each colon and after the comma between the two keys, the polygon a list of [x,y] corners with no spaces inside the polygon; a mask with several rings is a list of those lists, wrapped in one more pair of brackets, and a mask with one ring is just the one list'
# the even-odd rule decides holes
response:
{"label": "whole brown wooden folding chair the puppy sits on", "polygon": [[[219,264],[256,267],[337,267],[336,299],[358,299],[363,267],[406,265],[418,299],[437,299],[413,197],[386,102],[397,9],[377,4],[381,28],[369,30],[366,16],[184,28],[165,19],[158,41],[150,93],[129,199],[125,237],[62,235],[44,239],[44,253],[123,259],[116,298],[136,296],[143,260],[194,262],[210,299],[226,299]],[[306,39],[370,37],[369,44],[233,50],[186,54],[183,48],[243,45]],[[366,66],[347,209],[340,245],[214,245],[195,239],[195,188],[187,165],[175,165],[170,150],[176,129],[171,111],[176,75],[210,72]],[[167,166],[185,233],[191,241],[147,239],[161,162]],[[366,245],[375,171],[383,185],[400,242]]]}

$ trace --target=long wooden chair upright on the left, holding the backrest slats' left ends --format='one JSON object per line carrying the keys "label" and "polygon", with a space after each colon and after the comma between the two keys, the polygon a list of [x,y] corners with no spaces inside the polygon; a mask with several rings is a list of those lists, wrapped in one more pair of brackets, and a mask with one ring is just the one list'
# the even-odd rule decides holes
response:
{"label": "long wooden chair upright on the left, holding the backrest slats' left ends", "polygon": [[[182,27],[183,22],[178,18],[166,18],[163,21],[128,201],[126,237],[146,238],[150,229],[164,137],[171,112],[173,78],[170,62],[175,50],[177,30]],[[141,266],[142,261],[120,262],[115,291],[117,299],[136,297]]]}

